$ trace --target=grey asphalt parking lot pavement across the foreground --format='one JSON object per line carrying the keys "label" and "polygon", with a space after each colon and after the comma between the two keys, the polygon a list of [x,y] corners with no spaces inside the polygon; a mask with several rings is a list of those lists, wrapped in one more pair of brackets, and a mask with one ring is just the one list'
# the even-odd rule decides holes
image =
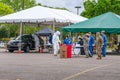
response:
{"label": "grey asphalt parking lot pavement across the foreground", "polygon": [[0,52],[0,80],[119,80],[120,56],[60,59],[53,54]]}

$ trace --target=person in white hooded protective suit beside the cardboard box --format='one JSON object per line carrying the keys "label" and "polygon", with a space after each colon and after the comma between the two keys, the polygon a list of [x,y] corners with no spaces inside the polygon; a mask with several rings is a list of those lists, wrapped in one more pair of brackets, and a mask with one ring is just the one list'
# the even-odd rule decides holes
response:
{"label": "person in white hooded protective suit beside the cardboard box", "polygon": [[59,31],[56,31],[53,35],[52,43],[53,43],[53,49],[54,49],[54,56],[57,56],[58,51],[60,49],[59,43],[61,43],[61,41],[59,40],[59,36],[60,36]]}

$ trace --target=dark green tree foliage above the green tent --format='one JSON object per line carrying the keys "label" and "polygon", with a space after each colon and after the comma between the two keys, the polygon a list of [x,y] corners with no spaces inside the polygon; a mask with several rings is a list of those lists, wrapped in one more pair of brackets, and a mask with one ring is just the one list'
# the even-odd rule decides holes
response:
{"label": "dark green tree foliage above the green tent", "polygon": [[120,0],[86,0],[82,16],[92,18],[106,12],[120,15]]}

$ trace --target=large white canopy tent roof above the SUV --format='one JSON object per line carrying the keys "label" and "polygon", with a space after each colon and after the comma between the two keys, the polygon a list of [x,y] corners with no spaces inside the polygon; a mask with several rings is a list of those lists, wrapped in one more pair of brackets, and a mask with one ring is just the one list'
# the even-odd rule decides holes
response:
{"label": "large white canopy tent roof above the SUV", "polygon": [[20,22],[70,22],[76,23],[84,21],[87,18],[78,16],[66,10],[51,9],[42,6],[35,6],[13,14],[0,17],[0,23],[20,23]]}

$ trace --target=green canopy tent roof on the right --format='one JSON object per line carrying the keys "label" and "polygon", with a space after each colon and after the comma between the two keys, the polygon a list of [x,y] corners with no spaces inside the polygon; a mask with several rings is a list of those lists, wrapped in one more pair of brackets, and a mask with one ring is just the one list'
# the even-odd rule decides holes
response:
{"label": "green canopy tent roof on the right", "polygon": [[108,12],[89,20],[79,22],[67,27],[63,27],[65,32],[100,32],[105,30],[107,33],[120,33],[120,16]]}

